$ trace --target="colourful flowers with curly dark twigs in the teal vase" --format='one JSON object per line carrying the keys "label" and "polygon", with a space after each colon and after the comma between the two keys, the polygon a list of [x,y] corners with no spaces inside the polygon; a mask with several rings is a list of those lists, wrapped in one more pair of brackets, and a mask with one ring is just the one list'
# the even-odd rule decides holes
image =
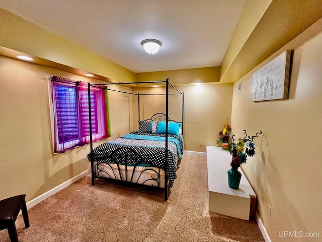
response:
{"label": "colourful flowers with curly dark twigs in the teal vase", "polygon": [[244,130],[245,137],[243,139],[239,138],[238,141],[231,136],[232,146],[229,147],[229,152],[232,155],[231,167],[237,169],[241,164],[246,163],[247,156],[255,155],[255,144],[253,140],[255,137],[258,137],[259,134],[262,134],[262,131],[256,133],[254,136],[247,136],[247,131]]}

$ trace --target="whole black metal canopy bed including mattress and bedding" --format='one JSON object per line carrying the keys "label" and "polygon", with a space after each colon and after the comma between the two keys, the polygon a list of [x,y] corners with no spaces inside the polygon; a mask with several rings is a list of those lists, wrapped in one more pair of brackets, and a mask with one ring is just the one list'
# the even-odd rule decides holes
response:
{"label": "whole black metal canopy bed including mattress and bedding", "polygon": [[[110,85],[126,85],[126,84],[165,84],[165,94],[139,94],[128,93],[118,90],[109,89]],[[175,88],[169,83],[167,78],[165,81],[151,81],[151,82],[131,82],[131,83],[104,83],[104,84],[91,84],[88,83],[89,93],[89,110],[91,110],[91,87],[92,86],[105,86],[107,90],[126,93],[130,95],[136,95],[138,98],[138,119],[139,128],[140,125],[145,122],[150,122],[152,125],[159,124],[164,125],[165,131],[162,134],[156,134],[156,132],[148,132],[153,134],[141,133],[141,130],[133,131],[122,138],[130,138],[134,136],[135,142],[139,145],[123,145],[119,142],[120,138],[106,142],[99,145],[96,149],[93,149],[93,137],[92,137],[92,114],[89,111],[90,122],[90,147],[91,152],[88,154],[88,159],[91,162],[91,179],[92,186],[95,185],[95,178],[100,179],[116,179],[125,181],[127,183],[136,183],[146,186],[157,187],[165,191],[165,200],[168,200],[168,189],[173,185],[177,164],[183,154],[183,120],[184,120],[184,93]],[[169,87],[172,87],[176,93],[169,93]],[[142,95],[165,95],[166,99],[166,113],[155,113],[150,118],[140,120],[140,96]],[[182,95],[182,120],[177,122],[170,119],[169,114],[169,96],[170,95]],[[170,124],[172,123],[172,124]],[[172,125],[180,124],[180,134],[172,133]],[[145,124],[146,125],[146,124]],[[169,128],[170,125],[170,128]],[[178,127],[178,128],[179,128]],[[159,127],[160,128],[160,127]],[[159,131],[159,130],[157,130]],[[159,132],[158,132],[159,133]],[[152,137],[150,137],[152,136]],[[142,137],[136,138],[136,137]],[[164,138],[163,138],[164,137]],[[152,141],[145,141],[145,138]],[[179,141],[177,141],[178,139]],[[144,140],[144,141],[143,141]],[[133,141],[132,141],[133,142]],[[156,142],[157,145],[150,146],[145,145],[146,142]],[[161,142],[161,143],[160,143]],[[136,144],[136,143],[135,143]],[[142,145],[144,144],[144,145]],[[149,144],[149,143],[148,143]],[[162,144],[162,148],[160,148]],[[175,154],[175,148],[178,148],[178,154]],[[156,156],[156,155],[159,156]],[[150,157],[151,156],[151,157]],[[158,162],[156,162],[158,160]]]}

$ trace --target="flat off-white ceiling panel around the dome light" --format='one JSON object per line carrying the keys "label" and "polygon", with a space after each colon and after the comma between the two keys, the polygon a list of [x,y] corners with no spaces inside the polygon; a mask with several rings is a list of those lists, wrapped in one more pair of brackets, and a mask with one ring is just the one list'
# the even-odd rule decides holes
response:
{"label": "flat off-white ceiling panel around the dome light", "polygon": [[[0,0],[0,7],[135,73],[220,66],[247,0]],[[141,41],[162,42],[146,53]]]}

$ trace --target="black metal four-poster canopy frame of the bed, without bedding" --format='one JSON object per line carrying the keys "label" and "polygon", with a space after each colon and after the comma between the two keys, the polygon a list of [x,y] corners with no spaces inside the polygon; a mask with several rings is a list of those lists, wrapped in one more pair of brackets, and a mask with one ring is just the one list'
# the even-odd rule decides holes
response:
{"label": "black metal four-poster canopy frame of the bed, without bedding", "polygon": [[[114,152],[112,152],[112,154],[108,157],[112,160],[115,161],[115,164],[117,165],[118,167],[118,174],[120,176],[120,179],[117,179],[117,176],[115,174],[115,172],[113,171],[113,168],[112,166],[109,164],[109,163],[106,163],[106,162],[99,162],[99,161],[96,161],[96,171],[97,171],[97,175],[95,174],[95,170],[94,170],[94,156],[93,156],[93,136],[92,136],[92,113],[91,113],[91,86],[108,86],[108,85],[126,85],[126,84],[147,84],[147,83],[166,83],[166,93],[165,94],[136,94],[136,93],[128,93],[128,92],[123,92],[123,91],[118,91],[118,90],[113,90],[113,89],[109,89],[107,87],[105,87],[107,90],[110,90],[110,91],[116,91],[116,92],[121,92],[121,93],[126,93],[126,94],[131,94],[131,95],[137,95],[138,97],[138,119],[140,121],[140,95],[165,95],[166,96],[166,113],[155,113],[151,116],[151,118],[148,118],[148,119],[145,119],[145,120],[142,120],[142,121],[147,121],[147,120],[150,120],[150,121],[156,121],[158,119],[158,122],[164,120],[166,122],[166,144],[165,144],[165,167],[161,167],[161,168],[158,168],[158,172],[155,171],[154,169],[151,169],[151,168],[146,168],[146,169],[143,169],[141,171],[141,173],[139,174],[139,177],[138,179],[135,181],[133,180],[133,175],[134,175],[134,171],[136,169],[136,167],[139,165],[139,164],[142,164],[143,163],[143,158],[140,156],[140,154],[138,154],[136,151],[133,151],[132,149],[130,148],[127,148],[127,147],[123,147],[123,148],[119,148],[119,149],[116,149]],[[172,88],[174,88],[178,93],[174,93],[174,94],[170,94],[169,93],[169,86],[171,86]],[[180,92],[177,88],[175,88],[172,84],[169,83],[169,79],[167,78],[166,81],[152,81],[152,82],[131,82],[131,83],[104,83],[104,84],[91,84],[91,83],[88,83],[88,95],[89,95],[89,121],[90,121],[90,146],[91,146],[91,153],[90,153],[90,156],[91,156],[91,172],[92,172],[92,186],[94,186],[95,184],[95,178],[100,178],[100,179],[114,179],[114,180],[121,180],[121,181],[125,181],[125,182],[128,182],[128,183],[136,183],[136,184],[140,184],[140,185],[144,185],[146,186],[144,183],[146,183],[147,181],[155,181],[156,183],[156,187],[160,188],[160,169],[164,169],[165,171],[165,187],[163,188],[165,190],[165,201],[168,200],[168,189],[169,189],[169,178],[168,178],[168,175],[167,175],[167,166],[168,166],[168,123],[169,122],[177,122],[173,119],[170,119],[168,114],[169,114],[169,95],[182,95],[182,122],[177,122],[177,123],[181,123],[182,126],[182,135],[183,135],[183,121],[184,121],[184,93],[183,92]],[[122,164],[122,165],[125,165],[125,177],[122,176],[121,174],[121,169],[120,169],[120,164],[117,162],[118,160],[120,160],[121,156],[124,156],[122,158],[122,160],[125,160],[125,163]],[[136,160],[136,162],[134,163],[133,165],[133,159]],[[133,166],[133,170],[132,170],[132,174],[131,174],[131,178],[128,177],[128,161],[131,160],[131,166]],[[105,172],[103,169],[100,169],[99,168],[99,165],[102,164],[102,163],[105,163],[107,164],[108,166],[110,166],[112,172],[113,172],[113,175],[114,175],[114,178],[108,174],[107,172]],[[144,161],[144,163],[147,163],[149,164],[149,162],[147,161]],[[150,164],[151,166],[153,166],[152,164]],[[139,181],[139,178],[141,177],[142,173],[145,172],[145,171],[152,171],[152,172],[155,172],[155,176],[153,176],[153,174],[151,174],[151,178],[149,179],[146,179],[145,181],[143,181],[143,183],[138,183]],[[104,172],[105,174],[107,174],[108,177],[103,177],[103,176],[100,176],[99,173],[100,172]],[[147,185],[147,186],[153,186],[152,185]],[[162,188],[160,188],[162,189]]]}

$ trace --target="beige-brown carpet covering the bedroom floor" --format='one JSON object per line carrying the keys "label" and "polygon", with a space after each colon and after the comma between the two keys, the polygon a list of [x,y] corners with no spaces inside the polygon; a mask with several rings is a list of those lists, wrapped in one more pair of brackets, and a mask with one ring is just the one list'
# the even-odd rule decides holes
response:
{"label": "beige-brown carpet covering the bedroom floor", "polygon": [[19,241],[264,241],[255,221],[209,213],[206,166],[185,154],[168,201],[155,188],[82,178],[29,209],[29,228],[20,214]]}

